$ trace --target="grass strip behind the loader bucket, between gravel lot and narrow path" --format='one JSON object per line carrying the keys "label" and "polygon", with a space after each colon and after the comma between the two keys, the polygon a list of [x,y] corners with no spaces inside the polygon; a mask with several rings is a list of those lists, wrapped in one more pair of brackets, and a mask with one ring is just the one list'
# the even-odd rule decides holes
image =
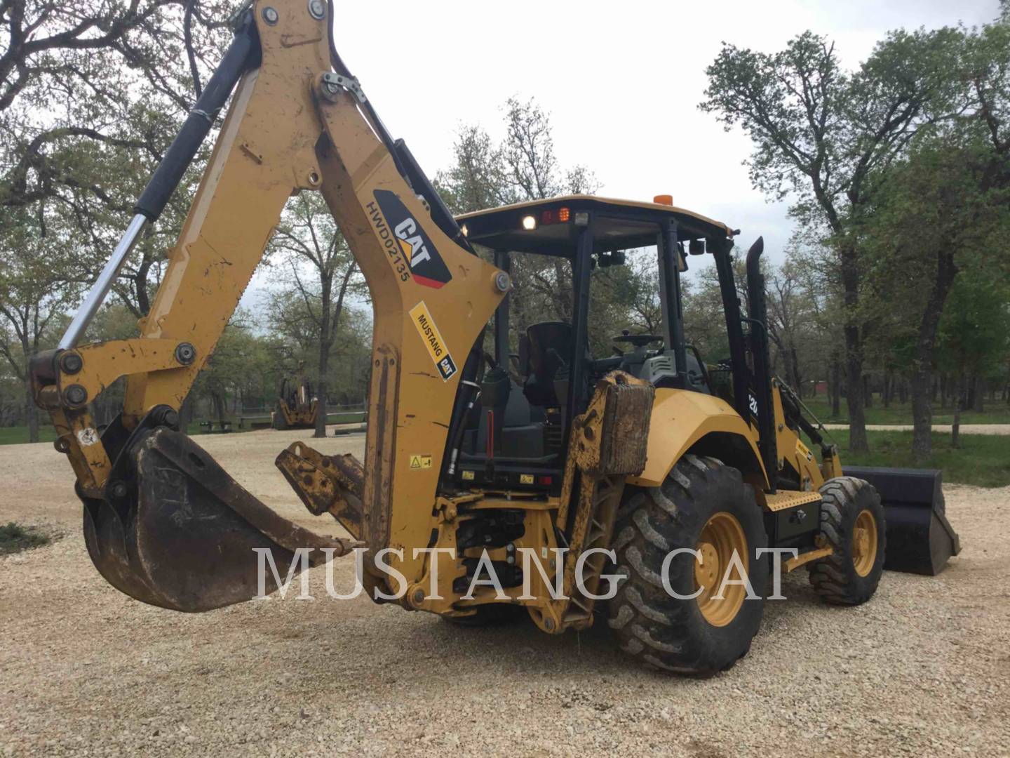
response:
{"label": "grass strip behind the loader bucket, between gravel lot and narrow path", "polygon": [[1010,485],[1010,438],[999,435],[961,435],[961,447],[950,447],[950,435],[933,433],[933,454],[924,464],[912,459],[911,432],[867,432],[870,452],[848,452],[848,432],[833,431],[842,466],[894,466],[941,469],[943,481],[979,487]]}

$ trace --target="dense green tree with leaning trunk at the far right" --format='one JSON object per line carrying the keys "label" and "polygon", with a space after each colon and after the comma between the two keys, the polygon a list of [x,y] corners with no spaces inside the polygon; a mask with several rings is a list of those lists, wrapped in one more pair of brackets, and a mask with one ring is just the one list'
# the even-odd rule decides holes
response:
{"label": "dense green tree with leaning trunk at the far right", "polygon": [[[961,145],[958,136],[921,140],[892,167],[863,228],[873,262],[866,311],[877,311],[886,325],[880,341],[897,348],[911,377],[912,451],[920,461],[931,452],[933,369],[947,298],[960,277],[996,283],[1007,273],[994,252],[1010,232],[1010,196],[985,177],[994,158],[988,148]],[[993,294],[979,289],[979,297]]]}

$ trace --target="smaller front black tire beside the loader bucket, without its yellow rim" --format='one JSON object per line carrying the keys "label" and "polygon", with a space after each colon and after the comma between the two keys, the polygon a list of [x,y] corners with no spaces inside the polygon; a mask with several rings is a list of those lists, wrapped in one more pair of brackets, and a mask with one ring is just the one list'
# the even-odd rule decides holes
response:
{"label": "smaller front black tire beside the loader bucket, without its yellow rim", "polygon": [[[870,482],[854,476],[828,479],[820,488],[821,537],[834,552],[809,564],[810,583],[832,605],[860,605],[874,596],[884,573],[887,528],[881,496]],[[877,522],[877,557],[870,573],[860,576],[852,562],[852,529],[863,510]]]}

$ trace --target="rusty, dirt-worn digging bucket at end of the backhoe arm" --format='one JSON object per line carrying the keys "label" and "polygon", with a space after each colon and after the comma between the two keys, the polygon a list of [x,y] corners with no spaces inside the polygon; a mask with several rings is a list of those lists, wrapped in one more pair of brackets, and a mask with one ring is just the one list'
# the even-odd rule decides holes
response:
{"label": "rusty, dirt-worn digging bucket at end of the backhoe arm", "polygon": [[[196,443],[167,428],[131,439],[103,499],[83,497],[88,553],[102,576],[131,597],[201,611],[277,588],[257,549],[271,551],[282,581],[292,563],[324,563],[352,547],[284,518],[245,491]],[[298,548],[309,548],[305,563]],[[261,587],[260,564],[265,581]]]}

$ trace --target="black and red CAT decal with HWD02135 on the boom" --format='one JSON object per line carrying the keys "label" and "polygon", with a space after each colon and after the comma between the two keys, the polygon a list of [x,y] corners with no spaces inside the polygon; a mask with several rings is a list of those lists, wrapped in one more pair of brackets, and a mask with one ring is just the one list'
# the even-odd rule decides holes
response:
{"label": "black and red CAT decal with HWD02135 on the boom", "polygon": [[438,289],[452,280],[431,239],[390,190],[376,190],[368,204],[369,216],[400,281],[413,280]]}

